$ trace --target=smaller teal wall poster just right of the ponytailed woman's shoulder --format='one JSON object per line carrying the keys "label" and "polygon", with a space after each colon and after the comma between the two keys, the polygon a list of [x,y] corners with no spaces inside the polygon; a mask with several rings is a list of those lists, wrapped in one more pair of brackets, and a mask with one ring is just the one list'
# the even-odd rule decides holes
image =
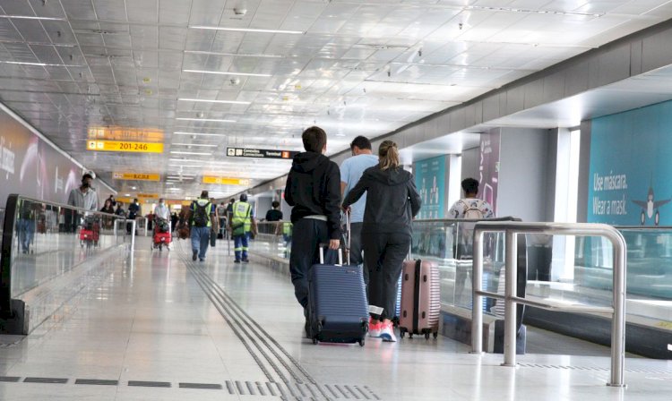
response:
{"label": "smaller teal wall poster just right of the ponytailed woman's shoulder", "polygon": [[416,162],[416,187],[422,198],[418,218],[444,218],[445,156]]}

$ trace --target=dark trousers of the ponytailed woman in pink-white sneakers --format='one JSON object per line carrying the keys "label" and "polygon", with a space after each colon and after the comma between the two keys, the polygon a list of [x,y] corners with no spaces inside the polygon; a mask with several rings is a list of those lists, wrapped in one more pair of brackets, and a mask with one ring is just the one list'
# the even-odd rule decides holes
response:
{"label": "dark trousers of the ponytailed woman in pink-white sneakers", "polygon": [[362,243],[369,275],[368,303],[383,308],[382,313],[371,313],[371,316],[376,320],[392,319],[401,269],[409,253],[410,235],[365,234]]}

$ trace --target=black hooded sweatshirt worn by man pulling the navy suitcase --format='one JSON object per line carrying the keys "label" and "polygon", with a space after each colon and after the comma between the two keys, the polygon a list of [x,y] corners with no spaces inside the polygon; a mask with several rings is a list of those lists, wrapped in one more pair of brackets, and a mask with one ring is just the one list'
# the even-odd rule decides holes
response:
{"label": "black hooded sweatshirt worn by man pulling the navy suitcase", "polygon": [[332,160],[315,152],[297,154],[287,177],[285,201],[294,207],[292,223],[323,215],[329,238],[340,239],[340,170]]}

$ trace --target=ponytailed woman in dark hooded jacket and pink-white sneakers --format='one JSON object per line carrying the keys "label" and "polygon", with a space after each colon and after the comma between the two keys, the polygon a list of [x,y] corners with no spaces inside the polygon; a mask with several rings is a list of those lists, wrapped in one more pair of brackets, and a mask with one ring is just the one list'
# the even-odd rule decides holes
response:
{"label": "ponytailed woman in dark hooded jacket and pink-white sneakers", "polygon": [[378,166],[365,170],[343,200],[343,209],[366,192],[362,247],[369,271],[369,336],[396,341],[391,319],[401,267],[409,253],[411,222],[420,211],[420,195],[413,175],[400,166],[396,143],[383,141],[378,156]]}

